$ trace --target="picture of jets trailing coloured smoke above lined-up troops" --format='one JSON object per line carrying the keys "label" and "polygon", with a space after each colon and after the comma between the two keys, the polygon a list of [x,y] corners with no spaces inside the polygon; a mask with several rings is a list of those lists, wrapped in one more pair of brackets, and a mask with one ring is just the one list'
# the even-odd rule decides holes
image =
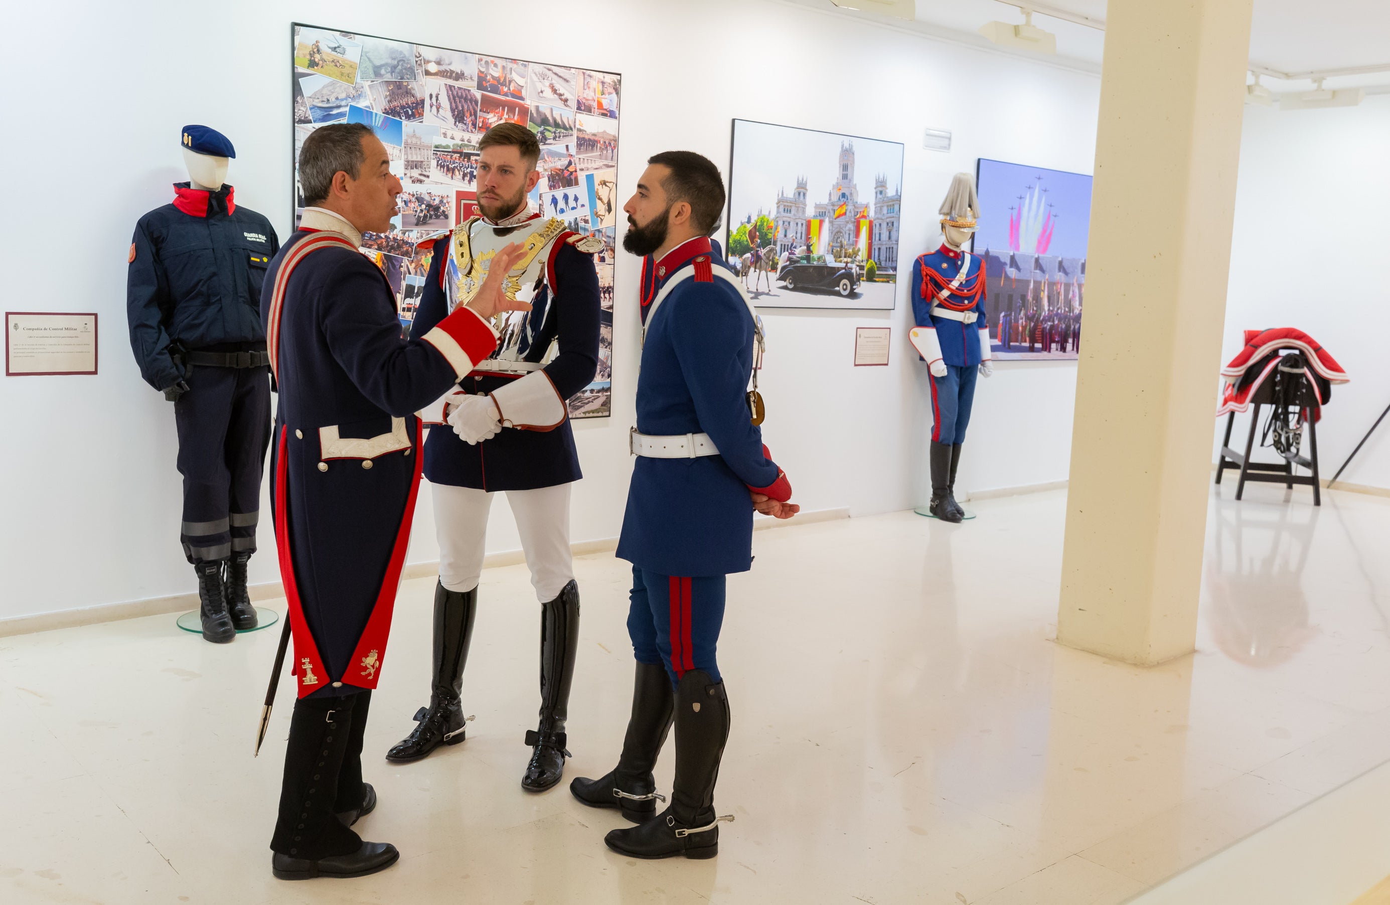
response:
{"label": "picture of jets trailing coloured smoke above lined-up troops", "polygon": [[997,361],[1076,359],[1086,296],[1091,177],[981,157],[980,225]]}

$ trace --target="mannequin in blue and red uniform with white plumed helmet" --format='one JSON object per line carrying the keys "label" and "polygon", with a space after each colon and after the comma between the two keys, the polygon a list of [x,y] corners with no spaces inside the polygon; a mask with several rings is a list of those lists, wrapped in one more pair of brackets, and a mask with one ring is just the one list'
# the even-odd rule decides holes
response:
{"label": "mannequin in blue and red uniform with white plumed helmet", "polygon": [[912,345],[926,360],[931,381],[931,514],[960,521],[955,500],[965,428],[970,424],[976,373],[994,371],[990,324],[984,314],[984,259],[965,250],[980,215],[974,179],[958,172],[941,202],[945,240],[912,267]]}

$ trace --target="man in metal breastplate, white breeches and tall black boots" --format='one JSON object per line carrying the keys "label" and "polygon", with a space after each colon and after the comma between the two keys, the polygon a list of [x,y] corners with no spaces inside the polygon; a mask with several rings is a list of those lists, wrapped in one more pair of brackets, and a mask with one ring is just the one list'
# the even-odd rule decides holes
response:
{"label": "man in metal breastplate, white breeches and tall black boots", "polygon": [[[502,342],[439,406],[446,425],[430,431],[425,477],[439,535],[434,678],[418,726],[386,759],[418,760],[464,738],[460,703],[492,499],[506,492],[541,602],[539,724],[525,734],[531,758],[521,787],[545,791],[564,772],[566,715],[578,644],[580,592],[570,559],[570,485],[580,462],[566,406],[594,380],[599,356],[602,242],[531,210],[541,147],[523,125],[502,124],[478,142],[481,214],[434,243],[434,259],[411,335],[434,329],[498,272],[498,249],[525,245],[507,274],[528,314],[495,324]],[[452,428],[452,430],[450,430]]]}

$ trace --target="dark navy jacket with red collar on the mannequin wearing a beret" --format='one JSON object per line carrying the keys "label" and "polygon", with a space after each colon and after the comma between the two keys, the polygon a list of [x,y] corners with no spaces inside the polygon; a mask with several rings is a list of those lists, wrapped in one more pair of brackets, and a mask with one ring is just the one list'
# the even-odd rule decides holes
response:
{"label": "dark navy jacket with red collar on the mannequin wearing a beret", "polygon": [[183,380],[170,343],[206,349],[261,343],[260,293],[279,239],[270,221],[215,192],[174,185],[172,204],[135,224],[126,318],[140,377],[154,389]]}

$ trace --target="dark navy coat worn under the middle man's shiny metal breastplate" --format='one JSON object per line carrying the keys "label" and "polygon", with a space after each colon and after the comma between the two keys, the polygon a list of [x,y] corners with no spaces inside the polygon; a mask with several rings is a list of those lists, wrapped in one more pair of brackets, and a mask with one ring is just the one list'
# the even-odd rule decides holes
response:
{"label": "dark navy coat worn under the middle man's shiny metal breastplate", "polygon": [[[503,232],[503,231],[499,231]],[[524,232],[521,235],[525,235]],[[542,285],[531,299],[530,324],[541,324],[523,349],[524,361],[539,361],[559,339],[559,354],[545,366],[562,399],[569,399],[589,385],[599,363],[599,277],[594,256],[556,239],[552,257],[555,293]],[[448,260],[449,236],[435,245],[430,277],[416,311],[411,336],[434,329],[449,310],[443,289],[443,263]],[[491,393],[513,377],[475,373],[459,381],[470,393]],[[431,400],[432,402],[432,400]],[[553,431],[502,428],[492,439],[466,443],[448,425],[431,430],[425,441],[425,477],[434,484],[473,487],[484,491],[528,491],[569,484],[584,477],[574,449],[574,431],[566,418]]]}

